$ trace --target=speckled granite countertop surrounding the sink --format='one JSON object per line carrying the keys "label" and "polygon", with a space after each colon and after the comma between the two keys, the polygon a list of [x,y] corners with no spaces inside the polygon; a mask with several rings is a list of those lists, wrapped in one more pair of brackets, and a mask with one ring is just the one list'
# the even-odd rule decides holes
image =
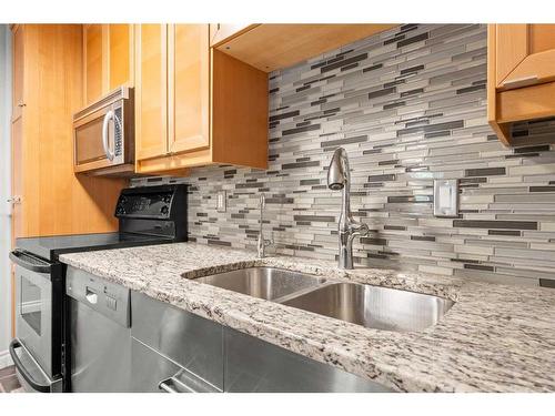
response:
{"label": "speckled granite countertop surrounding the sink", "polygon": [[[553,290],[376,268],[341,271],[334,262],[284,256],[259,260],[253,252],[196,243],[73,253],[60,258],[395,390],[555,390]],[[456,303],[433,327],[395,333],[365,328],[190,280],[262,265],[434,294]]]}

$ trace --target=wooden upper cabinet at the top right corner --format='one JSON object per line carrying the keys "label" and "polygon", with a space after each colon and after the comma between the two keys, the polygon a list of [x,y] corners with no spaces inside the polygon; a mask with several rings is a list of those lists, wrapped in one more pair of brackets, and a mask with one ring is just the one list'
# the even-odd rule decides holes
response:
{"label": "wooden upper cabinet at the top right corner", "polygon": [[490,24],[487,37],[487,118],[513,145],[511,123],[555,115],[555,24]]}

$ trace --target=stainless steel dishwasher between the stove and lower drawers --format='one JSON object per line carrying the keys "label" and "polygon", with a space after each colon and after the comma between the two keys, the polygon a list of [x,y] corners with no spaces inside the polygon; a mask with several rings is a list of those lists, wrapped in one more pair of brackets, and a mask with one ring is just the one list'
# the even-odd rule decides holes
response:
{"label": "stainless steel dishwasher between the stove and lower drawers", "polygon": [[71,390],[131,392],[130,290],[68,267]]}

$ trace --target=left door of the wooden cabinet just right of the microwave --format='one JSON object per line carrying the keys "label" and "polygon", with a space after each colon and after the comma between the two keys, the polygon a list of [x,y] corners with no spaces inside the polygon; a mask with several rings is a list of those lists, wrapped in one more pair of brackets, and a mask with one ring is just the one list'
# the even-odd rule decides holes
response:
{"label": "left door of the wooden cabinet just right of the microwave", "polygon": [[135,26],[135,159],[168,153],[168,26]]}

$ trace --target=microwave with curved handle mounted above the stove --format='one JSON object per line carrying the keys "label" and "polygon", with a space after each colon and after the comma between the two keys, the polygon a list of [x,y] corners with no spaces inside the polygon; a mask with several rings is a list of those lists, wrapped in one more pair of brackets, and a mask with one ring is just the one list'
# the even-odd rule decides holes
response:
{"label": "microwave with curved handle mounted above the stove", "polygon": [[133,175],[133,89],[121,87],[73,115],[74,172]]}

